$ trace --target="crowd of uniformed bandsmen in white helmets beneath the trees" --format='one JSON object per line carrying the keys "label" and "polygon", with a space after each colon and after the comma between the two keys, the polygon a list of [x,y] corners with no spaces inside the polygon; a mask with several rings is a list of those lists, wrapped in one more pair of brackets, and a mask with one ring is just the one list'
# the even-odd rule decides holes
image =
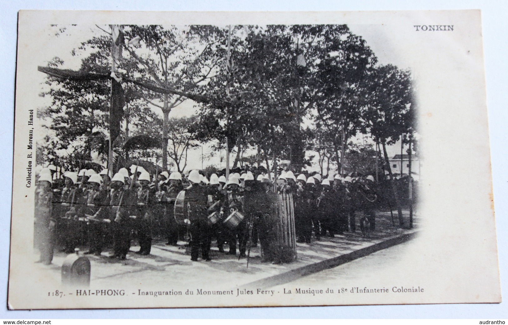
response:
{"label": "crowd of uniformed bandsmen in white helmets beneath the trees", "polygon": [[296,257],[291,241],[311,244],[358,226],[363,233],[375,229],[378,196],[372,175],[284,169],[275,174],[246,167],[227,178],[225,170],[151,175],[132,165],[111,178],[108,169],[39,165],[34,227],[39,262],[50,264],[54,250],[72,253],[78,247],[102,256],[110,245],[109,257],[125,259],[133,240],[140,246],[136,253],[149,255],[154,233],[162,233],[166,245],[185,241],[193,261],[200,252],[202,260],[211,260],[215,240],[220,253],[239,257],[259,241],[263,261],[282,263]]}

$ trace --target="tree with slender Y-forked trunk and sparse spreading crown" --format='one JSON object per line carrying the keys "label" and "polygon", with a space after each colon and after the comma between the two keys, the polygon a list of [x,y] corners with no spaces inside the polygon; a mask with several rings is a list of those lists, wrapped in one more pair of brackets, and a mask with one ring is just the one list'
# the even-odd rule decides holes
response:
{"label": "tree with slender Y-forked trunk and sparse spreading crown", "polygon": [[[164,28],[160,25],[131,25],[126,31],[130,38],[140,37],[136,46],[126,46],[130,60],[141,66],[145,74],[136,78],[147,80],[162,88],[171,88],[182,93],[200,92],[199,85],[208,81],[217,64],[214,37],[218,28],[192,26]],[[168,123],[171,110],[187,98],[182,95],[155,93],[140,90],[147,103],[160,108],[163,114],[162,142],[168,143]],[[158,104],[156,103],[162,103]],[[167,168],[167,146],[163,145],[163,168]]]}

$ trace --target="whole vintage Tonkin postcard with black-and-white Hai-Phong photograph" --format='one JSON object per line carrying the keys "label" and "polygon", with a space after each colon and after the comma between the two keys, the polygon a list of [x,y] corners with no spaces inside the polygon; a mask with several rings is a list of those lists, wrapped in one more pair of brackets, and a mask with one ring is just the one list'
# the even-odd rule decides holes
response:
{"label": "whole vintage Tonkin postcard with black-and-white Hai-Phong photograph", "polygon": [[499,303],[481,12],[20,11],[10,309]]}

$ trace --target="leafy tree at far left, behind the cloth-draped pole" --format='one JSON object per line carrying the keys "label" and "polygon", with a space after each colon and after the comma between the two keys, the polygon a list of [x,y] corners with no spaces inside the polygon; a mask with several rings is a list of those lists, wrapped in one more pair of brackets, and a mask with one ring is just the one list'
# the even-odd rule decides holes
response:
{"label": "leafy tree at far left, behind the cloth-draped pole", "polygon": [[[81,72],[109,75],[110,46],[110,36],[94,36],[82,42],[72,51],[72,55],[83,56]],[[51,68],[63,66],[64,62],[57,57],[48,64]],[[127,73],[125,75],[130,76]],[[79,167],[82,161],[93,160],[92,152],[98,153],[96,158],[105,162],[109,141],[109,79],[70,80],[48,76],[46,84],[49,85],[49,91],[43,92],[41,96],[50,96],[51,105],[41,108],[39,117],[48,121],[46,127],[52,130],[49,134],[55,137],[54,141],[47,141],[47,144],[52,145],[53,150],[60,155],[69,157],[73,168]],[[146,103],[135,96],[136,90],[133,87],[127,86],[125,91],[128,95],[128,114],[124,125],[127,133],[130,124],[147,124],[153,114],[148,112]],[[132,118],[129,118],[129,111],[134,112]],[[125,140],[125,135],[117,137],[113,149],[119,152]]]}

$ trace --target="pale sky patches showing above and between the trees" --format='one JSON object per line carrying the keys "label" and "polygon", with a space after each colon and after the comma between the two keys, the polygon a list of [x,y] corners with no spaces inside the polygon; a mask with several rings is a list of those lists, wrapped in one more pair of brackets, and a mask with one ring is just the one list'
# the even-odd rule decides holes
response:
{"label": "pale sky patches showing above and between the trees", "polygon": [[[55,34],[59,32],[59,28],[67,27],[65,31],[58,33],[57,36]],[[108,31],[107,27],[100,26]],[[387,25],[370,25],[370,24],[361,24],[361,25],[348,25],[351,31],[359,36],[362,36],[367,45],[371,47],[376,56],[378,57],[379,65],[392,64],[396,65],[401,69],[409,69],[411,70],[410,60],[407,60],[404,52],[401,52],[400,49],[397,50],[397,46],[395,46],[394,42],[397,41],[397,30],[393,30]],[[47,26],[43,33],[41,33],[41,44],[43,46],[40,47],[40,51],[37,56],[37,65],[39,66],[47,66],[48,62],[50,62],[55,56],[59,57],[63,60],[64,64],[62,66],[63,69],[72,69],[79,70],[81,65],[81,59],[89,55],[89,52],[77,50],[76,55],[72,55],[71,52],[73,49],[78,49],[81,45],[81,42],[84,42],[93,36],[105,35],[105,32],[101,31],[96,25],[76,25],[76,26]],[[38,83],[40,84],[39,92],[43,90],[48,90],[48,86],[44,84],[46,80],[46,74],[37,73],[35,77],[38,79]],[[37,97],[36,99],[37,107],[45,107],[50,104],[50,98],[48,97]],[[162,116],[162,112],[159,108],[156,108],[152,105],[149,105],[152,110]],[[186,100],[179,106],[176,106],[170,112],[171,117],[182,117],[189,116],[195,114],[199,108],[196,103],[192,100]],[[51,131],[40,128],[39,133],[37,134],[38,138],[42,138],[46,134],[51,134]],[[368,136],[362,136],[359,134],[356,138],[350,139],[350,141],[356,143],[371,143],[373,141]],[[404,151],[407,147],[404,148]],[[392,146],[387,147],[387,151],[390,157],[393,157],[395,154],[400,154],[400,141],[395,143]],[[201,169],[207,167],[209,165],[215,165],[219,168],[225,168],[225,152],[223,151],[222,162],[220,161],[220,154],[215,154],[210,157],[211,144],[202,144],[202,146],[197,147],[196,149],[189,150],[187,157],[187,170],[190,169]],[[247,152],[245,155],[252,154],[252,152]],[[315,153],[308,152],[307,157]],[[208,157],[208,158],[206,158]],[[233,152],[230,156],[231,163],[235,158],[235,153]],[[333,166],[334,167],[334,166]],[[315,155],[314,160],[312,161],[312,166],[307,167],[308,170],[317,171],[319,170],[319,165],[317,163],[317,155]]]}

